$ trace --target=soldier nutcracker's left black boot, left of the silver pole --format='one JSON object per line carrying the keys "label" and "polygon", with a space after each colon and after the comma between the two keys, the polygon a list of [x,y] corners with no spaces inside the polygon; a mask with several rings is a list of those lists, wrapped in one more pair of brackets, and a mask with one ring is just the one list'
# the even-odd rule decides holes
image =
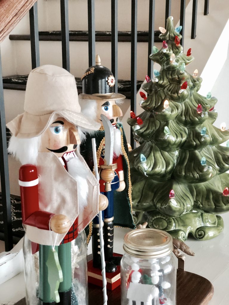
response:
{"label": "soldier nutcracker's left black boot, left of the silver pole", "polygon": [[[99,224],[93,224],[92,257],[93,257],[93,267],[102,269],[101,256],[100,256]],[[110,272],[115,272],[116,270],[117,270],[117,267],[115,264],[113,264],[112,262],[106,262],[106,267],[105,267],[106,272],[110,273]]]}

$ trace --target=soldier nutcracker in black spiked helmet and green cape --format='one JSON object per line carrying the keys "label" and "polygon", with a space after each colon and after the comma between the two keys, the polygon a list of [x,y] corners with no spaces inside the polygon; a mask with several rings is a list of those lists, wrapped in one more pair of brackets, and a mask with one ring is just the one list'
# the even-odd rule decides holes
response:
{"label": "soldier nutcracker in black spiked helmet and green cape", "polygon": [[[115,77],[111,70],[101,65],[100,57],[96,55],[96,65],[88,68],[82,76],[83,93],[79,95],[82,113],[101,121],[104,114],[114,128],[113,164],[116,165],[115,178],[111,183],[111,192],[105,192],[104,180],[100,178],[100,192],[108,198],[108,207],[103,211],[104,216],[104,255],[106,272],[115,272],[120,265],[120,257],[113,256],[114,224],[122,227],[135,228],[132,217],[131,181],[129,172],[128,147],[125,133],[118,117],[122,110],[116,101],[125,99],[122,94],[114,93]],[[104,164],[105,134],[103,125],[94,134],[88,133],[80,150],[88,166],[93,170],[91,138],[96,139],[97,162]],[[98,239],[98,217],[93,220],[92,251],[93,266],[101,268],[100,240]]]}

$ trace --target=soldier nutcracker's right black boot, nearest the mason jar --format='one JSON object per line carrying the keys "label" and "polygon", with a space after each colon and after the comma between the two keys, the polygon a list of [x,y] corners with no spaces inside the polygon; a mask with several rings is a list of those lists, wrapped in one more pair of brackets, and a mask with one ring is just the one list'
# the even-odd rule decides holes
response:
{"label": "soldier nutcracker's right black boot, nearest the mason jar", "polygon": [[122,257],[113,256],[114,244],[114,217],[104,219],[104,255],[105,261],[120,266]]}

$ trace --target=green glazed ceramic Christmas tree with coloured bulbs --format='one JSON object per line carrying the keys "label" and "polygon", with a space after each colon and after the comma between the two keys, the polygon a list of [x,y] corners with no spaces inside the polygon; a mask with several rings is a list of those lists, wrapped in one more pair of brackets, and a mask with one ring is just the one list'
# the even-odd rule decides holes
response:
{"label": "green glazed ceramic Christmas tree with coloured bulbs", "polygon": [[183,53],[172,17],[159,37],[150,58],[161,69],[143,86],[144,112],[128,120],[140,143],[129,157],[135,220],[183,241],[206,240],[224,228],[215,214],[229,210],[229,148],[220,145],[229,132],[213,126],[217,99],[198,94],[202,79],[185,71],[194,57]]}

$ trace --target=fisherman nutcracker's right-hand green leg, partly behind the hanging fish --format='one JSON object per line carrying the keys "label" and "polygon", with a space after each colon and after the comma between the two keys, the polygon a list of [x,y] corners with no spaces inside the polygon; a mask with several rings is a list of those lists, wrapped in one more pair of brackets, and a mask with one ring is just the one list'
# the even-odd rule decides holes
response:
{"label": "fisherman nutcracker's right-hand green leg, partly behind the hanging fish", "polygon": [[58,289],[60,305],[71,305],[71,242],[59,246],[58,256],[64,279]]}

